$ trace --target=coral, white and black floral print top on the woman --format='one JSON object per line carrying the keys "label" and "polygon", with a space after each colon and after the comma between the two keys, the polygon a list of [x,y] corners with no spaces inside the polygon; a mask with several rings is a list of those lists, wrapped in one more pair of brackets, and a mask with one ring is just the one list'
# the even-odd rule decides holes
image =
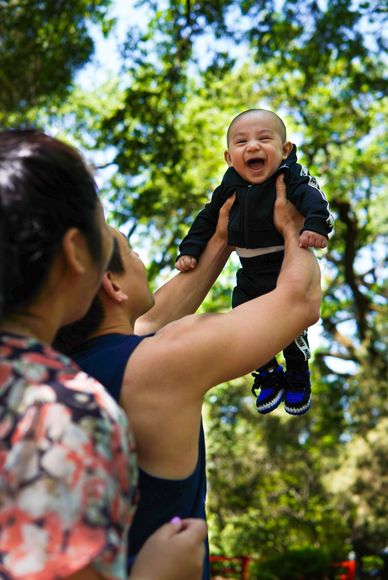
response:
{"label": "coral, white and black floral print top on the woman", "polygon": [[126,578],[136,494],[123,411],[51,347],[0,334],[0,578]]}

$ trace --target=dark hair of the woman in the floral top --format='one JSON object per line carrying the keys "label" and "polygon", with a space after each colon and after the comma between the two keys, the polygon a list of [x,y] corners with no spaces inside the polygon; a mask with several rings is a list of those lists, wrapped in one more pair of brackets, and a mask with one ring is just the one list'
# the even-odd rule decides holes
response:
{"label": "dark hair of the woman in the floral top", "polygon": [[101,259],[98,203],[73,147],[36,130],[0,132],[0,319],[33,301],[68,229]]}

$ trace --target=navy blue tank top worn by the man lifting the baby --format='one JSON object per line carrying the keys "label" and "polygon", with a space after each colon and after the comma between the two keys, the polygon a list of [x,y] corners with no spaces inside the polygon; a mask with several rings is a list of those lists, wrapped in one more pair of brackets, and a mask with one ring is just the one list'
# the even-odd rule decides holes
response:
{"label": "navy blue tank top worn by the man lifting the baby", "polygon": [[[152,336],[152,335],[148,335]],[[146,336],[106,334],[88,341],[72,358],[87,374],[103,384],[119,403],[125,367]],[[171,442],[174,445],[174,442]],[[139,469],[140,501],[129,531],[129,568],[147,538],[174,516],[206,519],[206,456],[201,423],[198,462],[186,479],[161,479]],[[206,539],[203,580],[209,580],[209,545]]]}

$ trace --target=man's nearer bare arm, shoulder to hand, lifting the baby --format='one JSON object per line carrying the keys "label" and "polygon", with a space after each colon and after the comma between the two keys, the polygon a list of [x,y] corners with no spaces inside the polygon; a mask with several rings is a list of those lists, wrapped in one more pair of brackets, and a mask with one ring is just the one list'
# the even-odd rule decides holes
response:
{"label": "man's nearer bare arm, shoulder to hand, lifting the baby", "polygon": [[225,314],[172,322],[143,340],[128,361],[122,404],[139,465],[158,477],[183,478],[194,469],[209,389],[263,365],[319,317],[319,267],[312,252],[299,247],[301,217],[287,202],[284,184],[277,189],[274,217],[285,257],[276,289]]}

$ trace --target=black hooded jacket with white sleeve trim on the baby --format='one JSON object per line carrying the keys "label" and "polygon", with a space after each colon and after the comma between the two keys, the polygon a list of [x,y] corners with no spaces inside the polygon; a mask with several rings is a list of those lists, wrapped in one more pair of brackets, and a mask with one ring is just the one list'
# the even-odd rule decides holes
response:
{"label": "black hooded jacket with white sleeve trim on the baby", "polygon": [[284,243],[273,222],[276,178],[284,173],[287,198],[304,216],[304,230],[323,236],[333,229],[333,216],[315,177],[297,162],[296,146],[264,183],[249,184],[233,167],[226,171],[211,201],[199,212],[187,236],[179,245],[180,256],[199,258],[217,226],[220,208],[236,192],[229,214],[228,243],[240,248],[266,248]]}

